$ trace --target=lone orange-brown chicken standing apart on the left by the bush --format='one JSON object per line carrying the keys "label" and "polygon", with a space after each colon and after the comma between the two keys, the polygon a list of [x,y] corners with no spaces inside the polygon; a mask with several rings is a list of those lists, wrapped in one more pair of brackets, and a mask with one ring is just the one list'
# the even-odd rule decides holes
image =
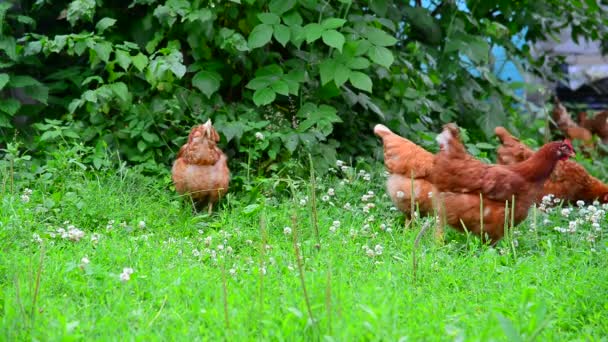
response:
{"label": "lone orange-brown chicken standing apart on the left by the bush", "polygon": [[189,195],[198,209],[206,205],[209,213],[230,182],[226,155],[217,147],[219,140],[211,120],[194,127],[171,170],[177,192]]}

